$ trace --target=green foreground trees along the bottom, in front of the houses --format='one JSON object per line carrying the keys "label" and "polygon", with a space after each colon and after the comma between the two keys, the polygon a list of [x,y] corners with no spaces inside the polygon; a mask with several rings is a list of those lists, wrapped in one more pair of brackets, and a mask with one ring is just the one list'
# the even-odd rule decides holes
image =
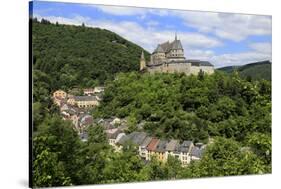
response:
{"label": "green foreground trees along the bottom, in front of the houses", "polygon": [[[181,167],[169,157],[167,163],[155,158],[145,163],[130,145],[114,153],[100,126],[90,127],[90,140],[81,142],[69,122],[57,116],[46,118],[35,135],[33,151],[33,186],[68,186],[150,180],[184,179],[209,176],[264,174],[271,172],[266,157],[269,139],[249,142],[256,147],[242,148],[233,139],[217,137],[207,147],[203,158]],[[269,145],[271,146],[271,145]],[[255,153],[255,151],[259,153]],[[264,154],[265,156],[266,153]]]}

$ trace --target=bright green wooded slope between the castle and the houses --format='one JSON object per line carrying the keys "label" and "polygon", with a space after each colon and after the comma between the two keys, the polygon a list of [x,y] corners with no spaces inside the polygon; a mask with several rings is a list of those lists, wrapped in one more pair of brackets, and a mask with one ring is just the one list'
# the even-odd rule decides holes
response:
{"label": "bright green wooded slope between the castle and the houses", "polygon": [[107,84],[94,116],[127,117],[131,130],[144,129],[160,138],[207,142],[223,136],[245,142],[253,132],[271,133],[271,84],[227,76],[119,74]]}

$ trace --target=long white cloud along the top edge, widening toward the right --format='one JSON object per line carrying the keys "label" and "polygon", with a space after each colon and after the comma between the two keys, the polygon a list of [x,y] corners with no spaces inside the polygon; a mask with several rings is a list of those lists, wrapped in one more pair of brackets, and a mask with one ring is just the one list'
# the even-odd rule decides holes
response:
{"label": "long white cloud along the top edge, widening toward the right", "polygon": [[93,7],[112,15],[140,15],[141,19],[146,18],[147,13],[178,16],[186,26],[196,28],[199,32],[213,33],[236,42],[250,35],[271,35],[270,16],[102,5]]}

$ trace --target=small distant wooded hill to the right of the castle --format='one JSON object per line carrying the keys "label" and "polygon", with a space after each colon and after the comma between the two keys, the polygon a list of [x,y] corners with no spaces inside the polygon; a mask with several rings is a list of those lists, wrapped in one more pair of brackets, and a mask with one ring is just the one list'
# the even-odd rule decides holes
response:
{"label": "small distant wooded hill to the right of the castle", "polygon": [[241,77],[251,79],[266,79],[271,81],[271,62],[261,61],[246,64],[244,66],[227,66],[219,68],[218,70],[226,73],[232,73],[234,70],[238,71]]}

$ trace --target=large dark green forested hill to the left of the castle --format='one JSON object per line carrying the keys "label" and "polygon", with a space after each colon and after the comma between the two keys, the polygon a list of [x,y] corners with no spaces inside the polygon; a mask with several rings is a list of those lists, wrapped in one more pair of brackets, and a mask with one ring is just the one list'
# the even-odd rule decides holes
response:
{"label": "large dark green forested hill to the left of the castle", "polygon": [[[113,79],[115,73],[139,68],[143,49],[116,33],[84,24],[51,24],[45,19],[31,22],[33,69],[36,76],[46,74],[52,90],[92,87]],[[145,56],[149,56],[146,51]]]}

